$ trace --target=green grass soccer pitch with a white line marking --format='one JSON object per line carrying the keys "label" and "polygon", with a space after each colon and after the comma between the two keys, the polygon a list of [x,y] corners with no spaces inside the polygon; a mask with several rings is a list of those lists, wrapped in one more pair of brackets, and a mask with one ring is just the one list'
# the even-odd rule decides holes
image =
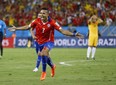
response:
{"label": "green grass soccer pitch with a white line marking", "polygon": [[97,48],[96,60],[86,60],[87,49],[54,48],[55,77],[47,66],[46,80],[40,81],[34,48],[4,49],[0,59],[0,85],[116,85],[116,49]]}

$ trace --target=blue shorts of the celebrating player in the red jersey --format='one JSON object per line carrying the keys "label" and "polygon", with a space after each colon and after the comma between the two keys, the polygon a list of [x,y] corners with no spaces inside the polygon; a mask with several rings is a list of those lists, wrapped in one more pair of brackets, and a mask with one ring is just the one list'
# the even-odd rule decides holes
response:
{"label": "blue shorts of the celebrating player in the red jersey", "polygon": [[53,42],[46,42],[44,44],[38,44],[35,41],[36,53],[38,53],[38,51],[41,52],[44,47],[47,47],[49,50],[51,50],[54,47],[54,43]]}

